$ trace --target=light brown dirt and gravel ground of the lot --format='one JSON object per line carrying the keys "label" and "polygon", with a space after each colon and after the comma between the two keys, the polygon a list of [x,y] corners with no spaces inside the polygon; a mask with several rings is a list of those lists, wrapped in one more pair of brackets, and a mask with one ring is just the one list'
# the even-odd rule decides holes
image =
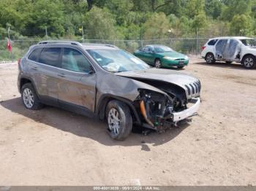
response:
{"label": "light brown dirt and gravel ground of the lot", "polygon": [[256,70],[193,57],[182,71],[202,82],[199,115],[113,141],[104,122],[25,109],[17,64],[1,63],[0,185],[256,185]]}

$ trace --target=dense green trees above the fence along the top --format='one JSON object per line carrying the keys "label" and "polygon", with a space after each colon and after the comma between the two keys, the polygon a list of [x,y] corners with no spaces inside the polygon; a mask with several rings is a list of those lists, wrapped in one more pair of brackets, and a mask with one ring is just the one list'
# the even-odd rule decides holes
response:
{"label": "dense green trees above the fence along the top", "polygon": [[0,37],[165,39],[256,34],[256,0],[1,0]]}

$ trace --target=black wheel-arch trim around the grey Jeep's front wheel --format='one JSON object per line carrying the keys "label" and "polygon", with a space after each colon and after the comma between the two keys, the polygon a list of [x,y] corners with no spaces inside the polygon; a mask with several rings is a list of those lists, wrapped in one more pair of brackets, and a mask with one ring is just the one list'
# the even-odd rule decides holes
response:
{"label": "black wheel-arch trim around the grey Jeep's front wheel", "polygon": [[107,104],[110,100],[119,100],[124,102],[124,104],[127,104],[127,106],[129,106],[129,109],[131,110],[131,114],[135,117],[135,123],[138,125],[141,125],[142,122],[140,120],[140,117],[138,115],[138,112],[135,109],[135,106],[132,104],[132,101],[129,101],[126,98],[122,98],[116,95],[112,95],[109,93],[103,94],[100,98],[99,101],[97,101],[97,106],[95,109],[95,114],[97,114],[97,116],[99,116],[100,120],[103,120],[105,117],[105,109],[107,107]]}

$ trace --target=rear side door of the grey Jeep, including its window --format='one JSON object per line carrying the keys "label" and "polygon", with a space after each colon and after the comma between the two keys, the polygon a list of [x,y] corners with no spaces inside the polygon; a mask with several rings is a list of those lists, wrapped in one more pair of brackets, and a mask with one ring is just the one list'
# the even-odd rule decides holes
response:
{"label": "rear side door of the grey Jeep, including its window", "polygon": [[58,105],[60,47],[45,47],[29,55],[29,71],[39,98],[47,104]]}

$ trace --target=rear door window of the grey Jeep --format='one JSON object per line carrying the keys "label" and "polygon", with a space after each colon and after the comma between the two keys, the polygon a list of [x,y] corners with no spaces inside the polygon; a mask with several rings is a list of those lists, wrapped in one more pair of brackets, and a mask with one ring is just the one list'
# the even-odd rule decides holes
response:
{"label": "rear door window of the grey Jeep", "polygon": [[39,63],[45,63],[49,66],[59,67],[59,55],[61,53],[60,47],[44,48],[39,56]]}

